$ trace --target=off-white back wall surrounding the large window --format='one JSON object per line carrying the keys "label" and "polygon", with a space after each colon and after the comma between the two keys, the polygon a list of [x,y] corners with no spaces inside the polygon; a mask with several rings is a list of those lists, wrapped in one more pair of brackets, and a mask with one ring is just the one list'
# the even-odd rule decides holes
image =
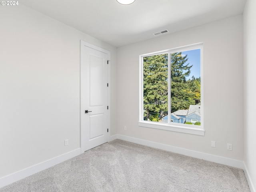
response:
{"label": "off-white back wall surrounding the large window", "polygon": [[[239,15],[118,48],[117,133],[243,160],[242,34]],[[139,127],[139,55],[198,42],[204,43],[205,136]],[[216,148],[211,141],[216,141]],[[233,144],[232,151],[227,143]]]}

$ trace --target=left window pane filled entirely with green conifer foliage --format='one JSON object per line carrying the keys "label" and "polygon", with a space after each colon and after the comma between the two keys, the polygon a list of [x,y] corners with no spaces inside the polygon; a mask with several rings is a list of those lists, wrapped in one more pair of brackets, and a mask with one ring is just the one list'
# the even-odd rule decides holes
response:
{"label": "left window pane filled entirely with green conifer foliage", "polygon": [[143,58],[143,92],[144,120],[168,123],[168,54]]}

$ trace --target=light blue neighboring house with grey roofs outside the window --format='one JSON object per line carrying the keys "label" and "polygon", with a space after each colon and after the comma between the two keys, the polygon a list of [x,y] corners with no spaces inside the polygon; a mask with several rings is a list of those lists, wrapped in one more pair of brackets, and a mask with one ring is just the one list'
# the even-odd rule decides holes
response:
{"label": "light blue neighboring house with grey roofs outside the window", "polygon": [[[171,121],[174,123],[201,122],[201,105],[190,105],[188,110],[178,110],[171,113]],[[168,122],[168,115],[162,122]]]}

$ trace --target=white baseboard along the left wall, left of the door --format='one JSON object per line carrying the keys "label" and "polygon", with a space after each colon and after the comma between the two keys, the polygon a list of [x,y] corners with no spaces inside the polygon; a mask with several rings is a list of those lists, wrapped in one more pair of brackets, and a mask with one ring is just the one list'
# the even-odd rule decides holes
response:
{"label": "white baseboard along the left wall, left of the door", "polygon": [[75,156],[78,156],[81,154],[81,148],[78,148],[76,150],[70,151],[66,154],[62,154],[60,156],[54,157],[52,159],[46,160],[42,163],[38,163],[36,165],[33,165],[31,167],[25,168],[23,170],[20,170],[18,172],[15,172],[13,174],[4,176],[0,178],[0,188],[9,185],[13,182],[16,182],[18,180],[21,180],[23,178],[26,178],[32,174],[38,173],[42,170],[45,170],[47,168],[50,168],[56,164],[59,164],[61,162],[64,162],[70,158],[73,158]]}

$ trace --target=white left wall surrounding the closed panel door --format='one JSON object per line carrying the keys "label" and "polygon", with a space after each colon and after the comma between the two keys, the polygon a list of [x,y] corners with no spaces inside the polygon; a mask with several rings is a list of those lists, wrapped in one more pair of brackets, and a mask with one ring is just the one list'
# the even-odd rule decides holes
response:
{"label": "white left wall surrounding the closed panel door", "polygon": [[80,148],[80,40],[111,52],[116,134],[116,48],[22,4],[0,18],[0,178]]}

